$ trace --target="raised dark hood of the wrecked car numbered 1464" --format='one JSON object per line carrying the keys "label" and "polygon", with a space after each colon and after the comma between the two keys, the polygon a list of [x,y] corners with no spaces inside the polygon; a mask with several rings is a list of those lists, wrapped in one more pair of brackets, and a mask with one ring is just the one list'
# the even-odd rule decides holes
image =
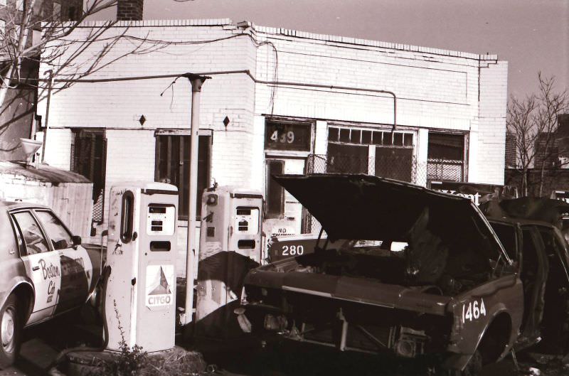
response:
{"label": "raised dark hood of the wrecked car numbered 1464", "polygon": [[[332,240],[406,241],[421,218],[443,241],[504,252],[471,200],[368,175],[274,176],[321,223]],[[425,220],[424,218],[428,219]]]}

